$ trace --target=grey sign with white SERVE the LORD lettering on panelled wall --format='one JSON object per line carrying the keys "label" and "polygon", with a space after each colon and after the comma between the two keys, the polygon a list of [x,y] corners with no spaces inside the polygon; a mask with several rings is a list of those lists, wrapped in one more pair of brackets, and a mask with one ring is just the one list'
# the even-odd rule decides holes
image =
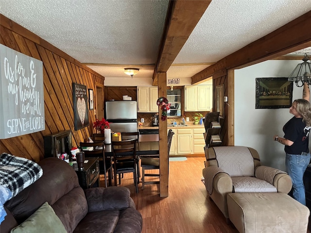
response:
{"label": "grey sign with white SERVE the LORD lettering on panelled wall", "polygon": [[0,139],[45,130],[43,64],[0,44]]}

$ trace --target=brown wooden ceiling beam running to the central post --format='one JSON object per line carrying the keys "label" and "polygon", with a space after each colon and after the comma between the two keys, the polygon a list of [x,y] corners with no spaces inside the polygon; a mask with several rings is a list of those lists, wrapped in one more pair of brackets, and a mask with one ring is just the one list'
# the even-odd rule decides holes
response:
{"label": "brown wooden ceiling beam running to the central post", "polygon": [[165,27],[153,74],[157,85],[157,72],[167,72],[193,29],[203,16],[211,0],[170,0]]}

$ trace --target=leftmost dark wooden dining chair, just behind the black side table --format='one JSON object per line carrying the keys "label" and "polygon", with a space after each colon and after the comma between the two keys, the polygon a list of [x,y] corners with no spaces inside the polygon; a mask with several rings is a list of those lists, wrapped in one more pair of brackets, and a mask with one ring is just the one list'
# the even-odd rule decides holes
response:
{"label": "leftmost dark wooden dining chair, just behind the black side table", "polygon": [[[99,157],[99,172],[104,174],[105,187],[107,187],[107,172],[108,172],[108,184],[112,185],[112,170],[111,170],[111,158],[105,158],[104,154],[104,141],[100,142],[80,142],[81,150],[85,154],[85,158]],[[83,148],[87,148],[84,149]]]}

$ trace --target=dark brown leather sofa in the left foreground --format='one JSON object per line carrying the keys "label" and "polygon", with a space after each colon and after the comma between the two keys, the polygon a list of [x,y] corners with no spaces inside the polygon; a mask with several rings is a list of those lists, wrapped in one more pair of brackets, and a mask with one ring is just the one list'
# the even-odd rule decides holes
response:
{"label": "dark brown leather sofa in the left foreground", "polygon": [[142,217],[126,187],[83,190],[68,163],[47,158],[38,163],[43,176],[4,204],[0,225],[8,233],[48,202],[68,233],[140,233]]}

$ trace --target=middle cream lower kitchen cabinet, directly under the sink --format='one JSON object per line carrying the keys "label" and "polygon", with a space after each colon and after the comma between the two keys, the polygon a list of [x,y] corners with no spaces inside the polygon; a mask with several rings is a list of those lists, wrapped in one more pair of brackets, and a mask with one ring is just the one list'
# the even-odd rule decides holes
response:
{"label": "middle cream lower kitchen cabinet, directly under the sink", "polygon": [[192,154],[192,129],[177,129],[177,154]]}

